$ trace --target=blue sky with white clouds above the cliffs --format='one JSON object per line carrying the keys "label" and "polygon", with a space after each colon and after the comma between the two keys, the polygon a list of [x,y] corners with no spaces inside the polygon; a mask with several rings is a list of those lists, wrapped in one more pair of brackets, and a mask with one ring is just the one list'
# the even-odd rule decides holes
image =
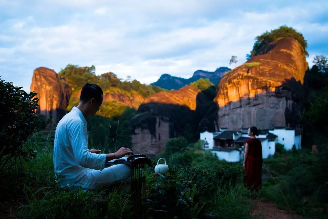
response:
{"label": "blue sky with white clouds above the cliffs", "polygon": [[242,64],[254,38],[280,25],[328,55],[328,1],[0,0],[0,75],[29,90],[33,70],[95,65],[152,83],[163,73]]}

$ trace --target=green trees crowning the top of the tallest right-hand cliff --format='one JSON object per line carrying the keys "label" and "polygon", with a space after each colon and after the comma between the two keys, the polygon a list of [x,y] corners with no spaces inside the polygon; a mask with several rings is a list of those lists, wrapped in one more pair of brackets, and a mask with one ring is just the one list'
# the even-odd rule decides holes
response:
{"label": "green trees crowning the top of the tallest right-hand cliff", "polygon": [[254,43],[253,50],[251,51],[251,57],[257,56],[259,51],[269,43],[275,42],[285,37],[292,37],[296,39],[299,42],[299,44],[302,46],[305,55],[309,56],[308,52],[306,51],[307,41],[304,39],[303,35],[297,32],[292,27],[287,27],[286,25],[282,25],[275,30],[271,30],[270,32],[266,31],[262,35],[257,36],[255,38],[256,41]]}

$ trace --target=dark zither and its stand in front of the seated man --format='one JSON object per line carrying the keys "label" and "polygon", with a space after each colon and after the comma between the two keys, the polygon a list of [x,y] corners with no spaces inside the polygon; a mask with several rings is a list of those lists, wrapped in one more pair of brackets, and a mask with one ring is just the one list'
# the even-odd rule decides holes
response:
{"label": "dark zither and its stand in front of the seated man", "polygon": [[152,160],[143,154],[132,155],[106,162],[105,167],[125,164],[131,167],[131,192],[134,201],[134,216],[141,218],[141,192],[146,198],[145,164],[151,166]]}

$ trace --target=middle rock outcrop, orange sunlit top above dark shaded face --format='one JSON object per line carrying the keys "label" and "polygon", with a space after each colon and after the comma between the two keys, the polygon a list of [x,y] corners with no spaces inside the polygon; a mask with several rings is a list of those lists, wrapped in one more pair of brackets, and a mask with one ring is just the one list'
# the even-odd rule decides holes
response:
{"label": "middle rock outcrop, orange sunlit top above dark shaded face", "polygon": [[184,86],[148,97],[130,120],[133,150],[155,157],[165,150],[169,138],[192,134],[199,120],[195,111],[198,94],[197,89]]}

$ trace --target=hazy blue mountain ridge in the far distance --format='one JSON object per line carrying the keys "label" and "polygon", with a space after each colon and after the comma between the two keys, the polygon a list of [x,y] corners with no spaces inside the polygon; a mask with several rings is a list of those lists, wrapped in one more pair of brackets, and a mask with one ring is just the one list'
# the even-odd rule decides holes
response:
{"label": "hazy blue mountain ridge in the far distance", "polygon": [[193,77],[188,79],[172,76],[170,74],[162,74],[161,77],[151,85],[159,86],[168,90],[178,90],[181,87],[189,85],[190,83],[197,81],[200,78],[209,78],[213,84],[217,85],[223,75],[230,70],[231,69],[228,67],[219,67],[216,68],[215,71],[197,70],[194,72]]}

